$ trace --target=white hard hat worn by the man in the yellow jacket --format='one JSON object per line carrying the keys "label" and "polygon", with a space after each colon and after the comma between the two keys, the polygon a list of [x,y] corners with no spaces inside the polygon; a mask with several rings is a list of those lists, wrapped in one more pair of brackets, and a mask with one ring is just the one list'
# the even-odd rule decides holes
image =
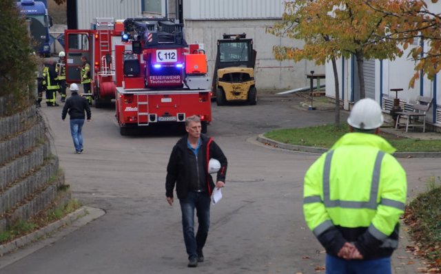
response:
{"label": "white hard hat worn by the man in the yellow jacket", "polygon": [[380,105],[371,98],[364,98],[353,105],[347,123],[357,129],[376,129],[383,119]]}

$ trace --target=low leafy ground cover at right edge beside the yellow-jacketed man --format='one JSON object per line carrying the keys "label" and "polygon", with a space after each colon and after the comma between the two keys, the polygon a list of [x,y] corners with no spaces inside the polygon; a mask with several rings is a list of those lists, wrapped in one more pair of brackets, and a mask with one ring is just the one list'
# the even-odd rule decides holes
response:
{"label": "low leafy ground cover at right edge beside the yellow-jacketed man", "polygon": [[404,224],[410,228],[416,246],[414,254],[429,262],[426,273],[441,273],[441,185],[440,178],[430,178],[429,190],[412,200],[404,212]]}

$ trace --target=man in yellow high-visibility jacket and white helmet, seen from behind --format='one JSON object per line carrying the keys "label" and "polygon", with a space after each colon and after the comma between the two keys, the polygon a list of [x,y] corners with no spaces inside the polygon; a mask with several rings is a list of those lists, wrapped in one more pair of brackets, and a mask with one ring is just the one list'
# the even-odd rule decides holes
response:
{"label": "man in yellow high-visibility jacket and white helmet, seen from behind", "polygon": [[327,251],[326,273],[390,274],[406,173],[391,156],[396,149],[378,136],[383,117],[376,101],[358,101],[347,121],[351,133],[305,175],[305,220]]}

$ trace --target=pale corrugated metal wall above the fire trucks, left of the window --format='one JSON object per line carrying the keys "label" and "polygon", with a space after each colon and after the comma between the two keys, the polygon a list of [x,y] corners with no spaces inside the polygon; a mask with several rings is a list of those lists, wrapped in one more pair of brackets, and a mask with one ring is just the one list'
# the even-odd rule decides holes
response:
{"label": "pale corrugated metal wall above the fire trucks, left of the window", "polygon": [[140,0],[76,0],[79,30],[89,29],[97,17],[126,19],[142,14]]}

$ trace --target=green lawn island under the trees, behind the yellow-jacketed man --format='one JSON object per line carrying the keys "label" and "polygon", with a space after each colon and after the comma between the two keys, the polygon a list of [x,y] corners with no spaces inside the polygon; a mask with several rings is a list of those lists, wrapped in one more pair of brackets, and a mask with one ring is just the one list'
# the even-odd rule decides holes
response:
{"label": "green lawn island under the trees, behind the yellow-jacketed man", "polygon": [[[316,127],[302,127],[295,129],[276,129],[265,133],[266,138],[290,145],[303,145],[307,147],[330,148],[343,135],[349,132],[348,125],[336,128],[334,125],[320,125]],[[398,152],[439,152],[440,140],[420,140],[404,138],[395,134],[380,132]]]}

